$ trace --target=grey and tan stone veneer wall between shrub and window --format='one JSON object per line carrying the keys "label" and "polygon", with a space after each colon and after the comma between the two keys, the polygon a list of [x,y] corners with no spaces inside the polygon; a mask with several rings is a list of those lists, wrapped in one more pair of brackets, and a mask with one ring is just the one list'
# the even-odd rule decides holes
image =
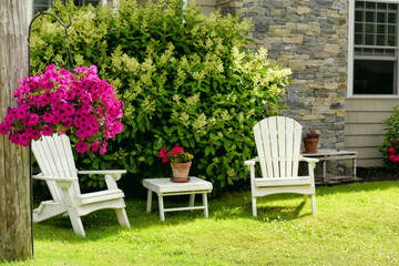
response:
{"label": "grey and tan stone veneer wall between shrub and window", "polygon": [[344,147],[348,0],[216,0],[222,13],[252,18],[249,38],[270,61],[293,70],[284,115]]}

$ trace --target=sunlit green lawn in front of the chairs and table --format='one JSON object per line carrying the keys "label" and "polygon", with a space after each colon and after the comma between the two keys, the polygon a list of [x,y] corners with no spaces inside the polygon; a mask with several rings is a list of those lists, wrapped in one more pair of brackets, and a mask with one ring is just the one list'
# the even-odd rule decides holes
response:
{"label": "sunlit green lawn in front of the chairs and table", "polygon": [[[168,206],[176,200],[166,198]],[[200,200],[200,198],[198,198]],[[318,214],[299,195],[258,201],[250,193],[209,198],[202,211],[145,213],[145,200],[127,201],[132,228],[113,211],[83,217],[86,238],[66,217],[34,224],[34,259],[3,265],[399,265],[399,182],[317,187]],[[167,206],[167,205],[166,205]]]}

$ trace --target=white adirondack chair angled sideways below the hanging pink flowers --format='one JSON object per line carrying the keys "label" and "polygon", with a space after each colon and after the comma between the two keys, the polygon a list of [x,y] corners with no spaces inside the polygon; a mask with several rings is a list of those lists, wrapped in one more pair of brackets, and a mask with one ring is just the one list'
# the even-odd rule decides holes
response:
{"label": "white adirondack chair angled sideways below the hanging pink flowers", "polygon": [[[119,223],[130,227],[124,194],[116,185],[125,170],[78,171],[66,135],[42,136],[42,140],[32,141],[32,152],[41,170],[33,177],[44,180],[53,197],[33,209],[33,222],[68,214],[73,231],[85,236],[81,216],[102,208],[114,208]],[[108,190],[81,194],[78,174],[105,175]]]}

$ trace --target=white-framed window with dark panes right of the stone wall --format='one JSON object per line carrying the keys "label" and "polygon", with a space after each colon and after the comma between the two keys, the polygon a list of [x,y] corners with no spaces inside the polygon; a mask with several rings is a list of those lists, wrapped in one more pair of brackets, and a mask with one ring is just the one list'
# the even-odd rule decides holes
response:
{"label": "white-framed window with dark panes right of the stone wall", "polygon": [[349,1],[348,96],[398,95],[399,1]]}

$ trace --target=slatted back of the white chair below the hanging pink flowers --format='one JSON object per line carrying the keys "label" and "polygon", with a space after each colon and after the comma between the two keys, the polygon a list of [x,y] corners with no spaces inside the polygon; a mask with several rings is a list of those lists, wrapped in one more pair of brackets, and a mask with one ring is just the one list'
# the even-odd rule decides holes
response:
{"label": "slatted back of the white chair below the hanging pink flowers", "polygon": [[[44,176],[76,177],[76,167],[70,140],[66,135],[42,136],[32,141],[32,152]],[[62,193],[54,181],[47,181],[54,201],[62,201]],[[79,182],[72,183],[75,195],[80,195]]]}

